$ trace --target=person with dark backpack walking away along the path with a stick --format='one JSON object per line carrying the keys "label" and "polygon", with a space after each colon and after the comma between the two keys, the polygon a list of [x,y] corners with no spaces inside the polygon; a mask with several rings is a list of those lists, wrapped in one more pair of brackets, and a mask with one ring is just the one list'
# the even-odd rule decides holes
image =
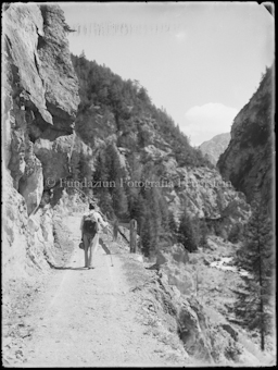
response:
{"label": "person with dark backpack walking away along the path with a stick", "polygon": [[89,205],[89,211],[84,214],[80,230],[84,243],[85,268],[92,269],[92,256],[99,247],[100,224],[108,226],[108,222],[103,221],[101,214],[96,210],[94,205]]}

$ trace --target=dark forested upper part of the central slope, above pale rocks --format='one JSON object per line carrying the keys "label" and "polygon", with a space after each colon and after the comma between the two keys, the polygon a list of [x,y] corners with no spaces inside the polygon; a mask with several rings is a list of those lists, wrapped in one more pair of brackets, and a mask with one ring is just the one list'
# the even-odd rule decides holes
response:
{"label": "dark forested upper part of the central slope, above pale rocks", "polygon": [[148,91],[137,81],[124,81],[109,67],[88,61],[85,55],[72,55],[79,79],[80,106],[76,128],[81,138],[92,145],[96,136],[117,135],[117,146],[137,151],[159,139],[173,148],[179,165],[211,165],[199,149],[190,146],[163,109],[157,109]]}

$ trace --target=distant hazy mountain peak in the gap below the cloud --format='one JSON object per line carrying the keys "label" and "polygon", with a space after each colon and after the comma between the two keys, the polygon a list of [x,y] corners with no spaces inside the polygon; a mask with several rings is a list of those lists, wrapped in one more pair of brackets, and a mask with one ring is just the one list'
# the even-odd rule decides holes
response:
{"label": "distant hazy mountain peak in the gap below the cloud", "polygon": [[219,134],[214,136],[211,140],[204,141],[200,145],[202,153],[208,157],[210,161],[216,165],[220,155],[227,149],[230,141],[230,133]]}

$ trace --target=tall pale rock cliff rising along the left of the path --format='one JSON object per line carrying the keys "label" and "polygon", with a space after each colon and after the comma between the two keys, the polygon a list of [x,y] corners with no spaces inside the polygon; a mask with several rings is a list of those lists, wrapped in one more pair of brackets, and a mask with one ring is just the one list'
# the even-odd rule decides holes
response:
{"label": "tall pale rock cliff rising along the left of the path", "polygon": [[53,247],[53,211],[39,206],[43,192],[67,174],[79,97],[59,7],[8,4],[3,22],[3,256],[9,278],[15,270],[24,274],[30,264],[43,268]]}

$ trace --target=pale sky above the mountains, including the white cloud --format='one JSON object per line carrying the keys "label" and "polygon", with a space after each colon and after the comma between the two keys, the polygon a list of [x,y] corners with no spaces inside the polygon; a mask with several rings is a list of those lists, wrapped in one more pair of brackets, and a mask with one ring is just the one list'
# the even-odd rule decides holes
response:
{"label": "pale sky above the mountains, including the white cloud", "polygon": [[63,2],[70,49],[137,79],[199,146],[232,120],[274,62],[274,17],[255,2]]}

